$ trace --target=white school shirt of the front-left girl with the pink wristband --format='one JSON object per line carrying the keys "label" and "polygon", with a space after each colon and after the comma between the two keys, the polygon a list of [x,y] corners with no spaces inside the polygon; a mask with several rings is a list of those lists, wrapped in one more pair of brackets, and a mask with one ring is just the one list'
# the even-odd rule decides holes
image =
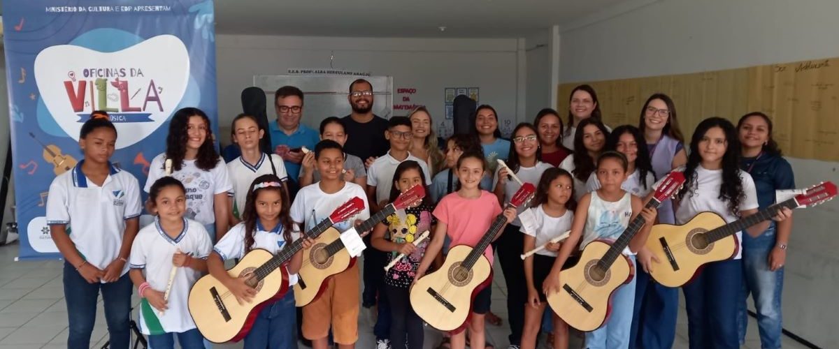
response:
{"label": "white school shirt of the front-left girl with the pink wristband", "polygon": [[[169,273],[173,267],[172,256],[179,249],[180,252],[191,254],[193,258],[206,259],[212,250],[210,235],[201,223],[184,218],[184,229],[177,238],[172,239],[160,227],[159,219],[155,218],[154,223],[140,229],[131,246],[131,257],[128,263],[133,269],[143,269],[143,276],[152,290],[165,292],[166,285],[169,284]],[[154,307],[140,305],[141,307],[149,306],[152,310],[138,311],[140,331],[144,335],[160,331],[157,324],[162,326],[165,332],[184,332],[195,328],[187,300],[190,297],[192,285],[199,278],[201,278],[201,271],[190,267],[178,268],[169,292],[169,309],[160,315]],[[154,316],[154,318],[149,316]]]}

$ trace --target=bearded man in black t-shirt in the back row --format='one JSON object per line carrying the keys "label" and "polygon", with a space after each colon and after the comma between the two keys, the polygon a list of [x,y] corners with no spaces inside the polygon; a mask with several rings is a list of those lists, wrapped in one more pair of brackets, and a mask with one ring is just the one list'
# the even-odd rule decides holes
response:
{"label": "bearded man in black t-shirt in the back row", "polygon": [[388,140],[384,133],[388,131],[388,121],[373,114],[373,85],[364,79],[352,81],[347,100],[352,107],[352,114],[341,118],[347,143],[344,151],[361,157],[365,166],[370,167],[376,157],[388,152]]}

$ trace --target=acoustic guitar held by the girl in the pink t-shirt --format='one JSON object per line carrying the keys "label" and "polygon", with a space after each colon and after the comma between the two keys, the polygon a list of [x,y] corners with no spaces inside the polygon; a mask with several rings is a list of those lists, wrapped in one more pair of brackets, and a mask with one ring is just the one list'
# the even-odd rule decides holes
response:
{"label": "acoustic guitar held by the girl in the pink t-shirt", "polygon": [[[525,182],[508,207],[524,205],[535,190],[533,184]],[[466,326],[475,295],[492,283],[492,264],[483,251],[505,223],[507,218],[499,214],[475,247],[452,246],[440,269],[416,281],[410,290],[410,301],[422,320],[441,331],[460,331]]]}

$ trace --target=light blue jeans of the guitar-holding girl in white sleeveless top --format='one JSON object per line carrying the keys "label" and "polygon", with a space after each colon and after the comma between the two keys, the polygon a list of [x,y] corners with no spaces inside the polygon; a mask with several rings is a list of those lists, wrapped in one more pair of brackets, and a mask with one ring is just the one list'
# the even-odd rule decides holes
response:
{"label": "light blue jeans of the guitar-holding girl in white sleeveless top", "polygon": [[[635,256],[628,256],[635,267]],[[620,260],[616,263],[621,263]],[[632,327],[632,315],[635,304],[635,280],[618,287],[612,294],[612,313],[606,323],[597,330],[586,332],[588,349],[626,349],[629,347],[629,330]]]}

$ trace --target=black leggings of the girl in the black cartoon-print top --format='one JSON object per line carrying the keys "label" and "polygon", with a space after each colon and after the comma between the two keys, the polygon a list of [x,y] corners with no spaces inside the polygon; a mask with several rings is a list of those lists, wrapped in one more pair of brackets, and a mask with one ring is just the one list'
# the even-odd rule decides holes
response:
{"label": "black leggings of the girl in the black cartoon-print top", "polygon": [[[421,348],[423,345],[423,324],[420,316],[411,307],[408,289],[384,284],[384,292],[388,295],[390,305],[390,346],[393,349],[404,349],[405,344],[411,349]],[[405,341],[405,335],[408,341]]]}

